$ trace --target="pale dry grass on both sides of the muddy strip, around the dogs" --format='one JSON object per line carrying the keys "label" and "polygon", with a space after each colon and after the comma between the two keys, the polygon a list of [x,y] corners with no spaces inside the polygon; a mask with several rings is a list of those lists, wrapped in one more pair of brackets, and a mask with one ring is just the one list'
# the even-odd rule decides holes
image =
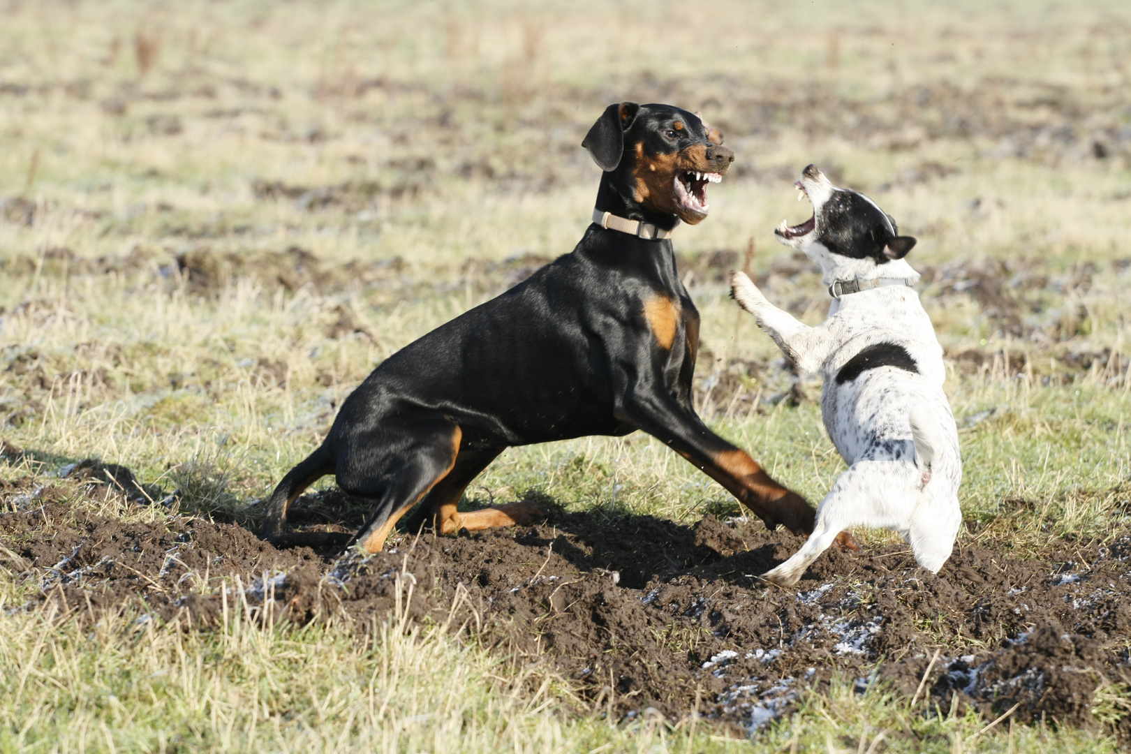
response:
{"label": "pale dry grass on both sides of the muddy strip, around the dogs", "polygon": [[[711,217],[675,236],[703,417],[810,500],[843,468],[819,385],[724,284],[745,266],[820,321],[819,276],[772,236],[808,211],[791,184],[814,162],[920,240],[962,427],[958,548],[1090,563],[1131,529],[1129,90],[1125,2],[8,2],[0,513],[46,511],[51,489],[74,513],[44,540],[87,513],[173,526],[61,474],[101,458],[179,489],[173,514],[253,523],[373,365],[572,249],[598,180],[580,140],[636,99],[701,110],[737,155]],[[508,450],[467,502],[529,491],[568,513],[740,513],[641,434]],[[861,558],[898,543],[857,537]],[[53,612],[58,564],[8,523],[0,545],[5,751],[1108,752],[1131,735],[1125,612],[1089,633],[1128,675],[1096,683],[1086,725],[983,733],[974,708],[921,713],[844,676],[748,738],[687,709],[618,722],[552,664],[405,610],[264,624],[223,572],[193,581],[232,590],[210,627]]]}

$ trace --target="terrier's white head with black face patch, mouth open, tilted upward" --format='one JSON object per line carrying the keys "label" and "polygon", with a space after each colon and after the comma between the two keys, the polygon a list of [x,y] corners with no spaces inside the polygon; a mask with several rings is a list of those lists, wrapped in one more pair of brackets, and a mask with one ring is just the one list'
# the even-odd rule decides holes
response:
{"label": "terrier's white head with black face patch, mouth open, tilted upward", "polygon": [[802,171],[794,185],[813,203],[813,216],[801,225],[782,220],[774,233],[783,244],[820,265],[826,283],[918,277],[903,261],[915,239],[899,235],[896,222],[874,201],[858,191],[832,185],[817,165]]}

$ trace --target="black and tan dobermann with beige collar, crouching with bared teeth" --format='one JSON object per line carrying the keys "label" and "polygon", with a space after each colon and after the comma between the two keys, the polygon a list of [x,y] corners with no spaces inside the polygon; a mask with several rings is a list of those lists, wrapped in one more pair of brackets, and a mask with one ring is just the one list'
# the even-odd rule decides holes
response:
{"label": "black and tan dobermann with beige collar, crouching with bared teeth", "polygon": [[266,538],[307,544],[284,534],[287,506],[328,474],[373,501],[356,536],[369,552],[417,503],[416,523],[443,534],[528,523],[547,511],[520,502],[459,512],[457,503],[510,445],[633,430],[671,445],[766,526],[812,530],[813,509],[691,405],[699,313],[668,236],[681,220],[707,217],[707,184],[734,153],[697,115],[633,102],[610,105],[582,146],[604,174],[573,252],[382,362],[271,494]]}

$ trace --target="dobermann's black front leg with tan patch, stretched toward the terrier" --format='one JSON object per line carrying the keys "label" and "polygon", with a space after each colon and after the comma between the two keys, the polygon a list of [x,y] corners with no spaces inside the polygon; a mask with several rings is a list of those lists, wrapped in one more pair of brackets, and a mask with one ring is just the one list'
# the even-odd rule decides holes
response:
{"label": "dobermann's black front leg with tan patch, stretched toward the terrier", "polygon": [[794,534],[813,530],[815,511],[801,495],[770,478],[745,451],[711,432],[657,382],[636,385],[619,409],[624,418],[658,437],[718,482],[769,529],[782,525]]}

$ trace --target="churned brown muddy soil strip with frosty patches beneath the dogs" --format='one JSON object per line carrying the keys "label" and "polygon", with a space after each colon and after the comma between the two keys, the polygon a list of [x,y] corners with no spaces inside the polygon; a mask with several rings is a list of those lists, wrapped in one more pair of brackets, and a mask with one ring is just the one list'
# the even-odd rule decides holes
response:
{"label": "churned brown muddy soil strip with frosty patches beneath the dogs", "polygon": [[[79,475],[80,496],[124,494],[102,476]],[[0,564],[37,587],[26,609],[95,619],[127,608],[207,627],[242,599],[259,616],[360,632],[399,609],[547,664],[616,719],[649,707],[676,719],[698,705],[744,730],[834,678],[913,695],[927,673],[924,714],[1016,707],[1018,722],[1083,727],[1098,725],[1097,688],[1131,684],[1131,537],[1050,543],[1041,554],[960,539],[938,575],[904,546],[834,548],[782,589],[756,577],[798,539],[745,520],[560,513],[473,536],[402,532],[362,556],[276,549],[200,518],[126,523],[76,505],[69,484],[24,479],[0,492],[16,511],[0,515]],[[357,502],[307,495],[295,522],[348,531],[364,515]],[[1119,723],[1125,739],[1129,725]]]}

